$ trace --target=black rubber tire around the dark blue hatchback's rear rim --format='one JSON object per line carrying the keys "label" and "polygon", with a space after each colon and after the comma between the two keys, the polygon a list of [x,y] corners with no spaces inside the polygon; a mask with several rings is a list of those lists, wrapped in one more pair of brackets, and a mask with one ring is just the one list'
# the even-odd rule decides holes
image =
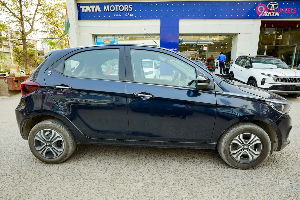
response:
{"label": "black rubber tire around the dark blue hatchback's rear rim", "polygon": [[[35,136],[41,130],[45,130],[45,129],[54,130],[61,136],[61,139],[63,141],[63,150],[62,150],[61,154],[58,155],[57,157],[54,157],[54,156],[53,156],[53,158],[44,157],[35,148],[35,142],[38,142],[37,140],[35,140]],[[67,127],[67,125],[65,125],[64,123],[62,123],[61,121],[59,121],[57,119],[48,119],[48,120],[41,121],[40,123],[36,124],[29,133],[28,143],[29,143],[29,148],[30,148],[32,154],[36,158],[38,158],[39,160],[41,160],[45,163],[51,163],[51,164],[61,163],[65,160],[67,160],[73,154],[73,152],[75,151],[75,148],[76,148],[76,139],[73,136],[72,132]],[[51,148],[52,148],[52,144],[51,144]],[[48,152],[50,152],[50,151],[48,151]],[[50,154],[51,154],[51,152],[50,152]]]}

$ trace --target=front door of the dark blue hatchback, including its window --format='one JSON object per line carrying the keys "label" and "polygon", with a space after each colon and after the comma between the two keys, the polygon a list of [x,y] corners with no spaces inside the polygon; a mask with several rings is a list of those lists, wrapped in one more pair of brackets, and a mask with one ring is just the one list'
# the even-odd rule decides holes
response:
{"label": "front door of the dark blue hatchback, including its window", "polygon": [[[209,142],[216,113],[212,76],[193,61],[159,50],[140,46],[125,49],[129,139]],[[158,62],[159,78],[145,76],[143,59]],[[212,90],[196,90],[198,74],[212,80]]]}

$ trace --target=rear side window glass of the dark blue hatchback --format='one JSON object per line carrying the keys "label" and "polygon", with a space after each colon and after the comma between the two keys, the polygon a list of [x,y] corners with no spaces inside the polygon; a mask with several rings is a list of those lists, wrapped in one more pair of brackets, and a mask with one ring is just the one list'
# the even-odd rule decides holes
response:
{"label": "rear side window glass of the dark blue hatchback", "polygon": [[77,53],[64,62],[64,74],[78,78],[119,79],[119,49]]}

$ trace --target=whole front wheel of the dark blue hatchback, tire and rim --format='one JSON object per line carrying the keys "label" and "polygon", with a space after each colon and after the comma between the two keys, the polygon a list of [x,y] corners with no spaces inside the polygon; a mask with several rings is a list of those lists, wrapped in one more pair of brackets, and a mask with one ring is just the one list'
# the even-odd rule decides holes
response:
{"label": "whole front wheel of the dark blue hatchback, tire and rim", "polygon": [[268,134],[252,123],[239,123],[220,137],[217,149],[222,159],[237,169],[251,169],[262,164],[271,151]]}

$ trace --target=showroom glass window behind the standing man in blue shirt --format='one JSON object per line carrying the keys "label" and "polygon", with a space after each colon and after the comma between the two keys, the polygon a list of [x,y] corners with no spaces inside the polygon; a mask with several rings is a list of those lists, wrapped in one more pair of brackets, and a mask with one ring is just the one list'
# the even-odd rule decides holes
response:
{"label": "showroom glass window behind the standing man in blue shirt", "polygon": [[[226,65],[230,63],[232,35],[179,34],[179,53],[192,60],[202,60],[207,67],[214,66],[214,60],[223,52]],[[230,64],[229,64],[230,65]]]}

